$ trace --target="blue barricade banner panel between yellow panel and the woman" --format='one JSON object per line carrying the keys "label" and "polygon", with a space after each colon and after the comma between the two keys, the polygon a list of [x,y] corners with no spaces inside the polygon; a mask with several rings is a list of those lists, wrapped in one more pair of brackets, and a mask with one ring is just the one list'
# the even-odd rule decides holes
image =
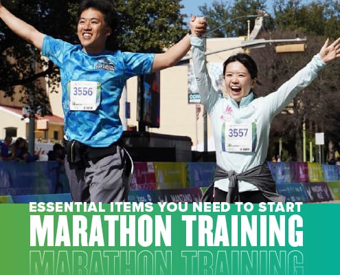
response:
{"label": "blue barricade banner panel between yellow panel and the woman", "polygon": [[189,187],[207,187],[214,181],[215,162],[188,162]]}

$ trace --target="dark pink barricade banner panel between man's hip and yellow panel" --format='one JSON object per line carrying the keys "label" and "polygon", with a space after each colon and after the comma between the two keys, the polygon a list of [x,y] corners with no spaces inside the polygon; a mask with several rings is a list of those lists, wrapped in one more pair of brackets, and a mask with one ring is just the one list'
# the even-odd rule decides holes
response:
{"label": "dark pink barricade banner panel between man's hip and yellow panel", "polygon": [[157,189],[155,166],[153,162],[134,162],[131,190]]}

